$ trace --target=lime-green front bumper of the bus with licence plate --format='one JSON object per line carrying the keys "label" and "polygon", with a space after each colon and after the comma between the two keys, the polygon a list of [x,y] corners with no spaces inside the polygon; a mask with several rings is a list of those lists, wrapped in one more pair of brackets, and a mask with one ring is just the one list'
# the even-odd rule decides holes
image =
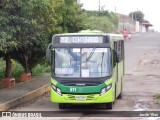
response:
{"label": "lime-green front bumper of the bus with licence plate", "polygon": [[78,103],[78,104],[89,104],[89,103],[108,103],[114,101],[112,89],[104,93],[102,96],[100,94],[86,94],[86,95],[76,95],[76,94],[62,94],[59,95],[53,89],[51,89],[51,101],[56,103]]}

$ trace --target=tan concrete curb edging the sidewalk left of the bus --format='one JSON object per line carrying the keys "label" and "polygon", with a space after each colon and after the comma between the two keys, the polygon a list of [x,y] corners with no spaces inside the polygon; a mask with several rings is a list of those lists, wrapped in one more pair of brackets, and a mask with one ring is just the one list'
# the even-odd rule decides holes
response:
{"label": "tan concrete curb edging the sidewalk left of the bus", "polygon": [[17,97],[13,100],[7,101],[6,103],[0,104],[0,111],[7,111],[13,107],[16,107],[20,104],[24,104],[26,102],[29,102],[30,100],[33,100],[44,93],[47,93],[50,90],[50,84],[46,84],[41,86],[38,89],[35,89],[31,92],[28,92],[27,94],[24,94],[20,97]]}

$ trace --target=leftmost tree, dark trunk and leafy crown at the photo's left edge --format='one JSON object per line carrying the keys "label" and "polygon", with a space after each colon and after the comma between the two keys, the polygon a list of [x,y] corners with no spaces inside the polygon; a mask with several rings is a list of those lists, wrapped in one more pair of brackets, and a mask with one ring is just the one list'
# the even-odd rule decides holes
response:
{"label": "leftmost tree, dark trunk and leafy crown at the photo's left edge", "polygon": [[6,72],[5,77],[11,77],[11,53],[17,48],[18,41],[15,39],[15,26],[13,26],[8,11],[9,7],[13,7],[11,4],[7,4],[9,1],[0,1],[0,54],[5,57],[6,60]]}

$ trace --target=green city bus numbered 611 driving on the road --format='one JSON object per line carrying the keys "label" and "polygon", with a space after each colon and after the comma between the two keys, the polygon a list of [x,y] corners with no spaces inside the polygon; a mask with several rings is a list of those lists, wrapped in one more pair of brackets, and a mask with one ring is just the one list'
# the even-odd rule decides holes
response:
{"label": "green city bus numbered 611 driving on the road", "polygon": [[67,104],[105,103],[112,109],[122,97],[124,40],[97,31],[56,34],[47,49],[51,58],[51,101]]}

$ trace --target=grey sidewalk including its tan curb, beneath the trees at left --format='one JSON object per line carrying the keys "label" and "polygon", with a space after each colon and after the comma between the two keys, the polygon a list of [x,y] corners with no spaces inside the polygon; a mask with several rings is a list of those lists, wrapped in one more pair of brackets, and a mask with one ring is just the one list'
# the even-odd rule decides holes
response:
{"label": "grey sidewalk including its tan curb, beneath the trees at left", "polygon": [[50,89],[50,75],[33,78],[27,82],[20,83],[12,88],[0,91],[0,111],[26,103]]}

